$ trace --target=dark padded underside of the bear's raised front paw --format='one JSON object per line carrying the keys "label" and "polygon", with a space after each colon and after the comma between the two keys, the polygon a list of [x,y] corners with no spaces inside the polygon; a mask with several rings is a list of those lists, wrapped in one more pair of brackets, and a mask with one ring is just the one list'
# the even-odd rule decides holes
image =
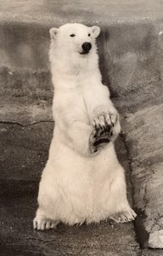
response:
{"label": "dark padded underside of the bear's raised front paw", "polygon": [[89,146],[92,153],[98,151],[99,146],[104,146],[110,143],[110,138],[113,132],[111,131],[111,126],[106,125],[103,128],[96,128],[93,130],[89,137]]}

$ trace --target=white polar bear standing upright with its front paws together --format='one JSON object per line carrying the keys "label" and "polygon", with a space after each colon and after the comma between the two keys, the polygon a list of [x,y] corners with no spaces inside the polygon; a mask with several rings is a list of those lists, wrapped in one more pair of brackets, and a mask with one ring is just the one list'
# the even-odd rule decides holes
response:
{"label": "white polar bear standing upright with its front paws together", "polygon": [[115,138],[121,127],[110,92],[101,82],[98,26],[50,29],[55,129],[39,186],[34,229],[136,217],[126,199]]}

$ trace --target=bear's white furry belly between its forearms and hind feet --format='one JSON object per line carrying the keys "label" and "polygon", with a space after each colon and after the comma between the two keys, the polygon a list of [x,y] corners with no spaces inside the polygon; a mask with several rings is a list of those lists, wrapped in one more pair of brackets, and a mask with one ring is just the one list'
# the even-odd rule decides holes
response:
{"label": "bear's white furry belly between its forearms and hind feet", "polygon": [[[113,148],[110,145],[97,157],[86,159],[62,147],[59,152],[63,152],[64,156],[59,159],[56,155],[58,161],[51,163],[53,171],[48,172],[47,169],[42,176],[42,187],[48,188],[44,196],[49,208],[53,209],[50,217],[70,225],[108,218],[115,208],[110,195],[110,183],[115,176],[112,172],[114,166],[110,165]],[[51,184],[46,183],[48,177]]]}

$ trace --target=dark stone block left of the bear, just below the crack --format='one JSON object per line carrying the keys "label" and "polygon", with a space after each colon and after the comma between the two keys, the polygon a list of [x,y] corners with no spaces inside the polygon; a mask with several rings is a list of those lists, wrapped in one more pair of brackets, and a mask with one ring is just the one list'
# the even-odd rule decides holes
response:
{"label": "dark stone block left of the bear, just below the crack", "polygon": [[39,180],[52,134],[51,122],[0,124],[0,179]]}

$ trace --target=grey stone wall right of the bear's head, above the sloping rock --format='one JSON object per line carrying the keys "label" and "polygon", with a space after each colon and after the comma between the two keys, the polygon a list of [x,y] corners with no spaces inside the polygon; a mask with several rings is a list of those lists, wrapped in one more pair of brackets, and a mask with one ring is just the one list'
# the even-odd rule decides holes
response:
{"label": "grey stone wall right of the bear's head, above the sloping rock", "polygon": [[123,115],[162,102],[162,28],[161,22],[115,25],[99,38],[104,82]]}

